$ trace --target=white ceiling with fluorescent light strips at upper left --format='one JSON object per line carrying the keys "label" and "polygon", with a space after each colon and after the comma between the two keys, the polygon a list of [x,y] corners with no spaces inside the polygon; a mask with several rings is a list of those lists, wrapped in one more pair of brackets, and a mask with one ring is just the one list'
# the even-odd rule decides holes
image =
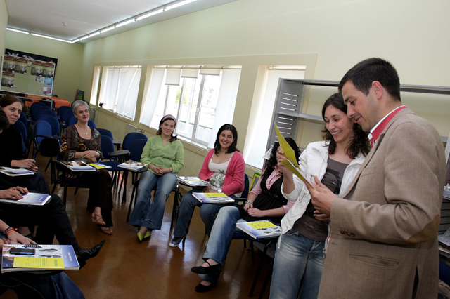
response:
{"label": "white ceiling with fluorescent light strips at upper left", "polygon": [[[94,41],[232,1],[236,0],[197,0],[79,42]],[[6,7],[8,28],[73,41],[133,16],[177,2],[181,0],[6,0]]]}

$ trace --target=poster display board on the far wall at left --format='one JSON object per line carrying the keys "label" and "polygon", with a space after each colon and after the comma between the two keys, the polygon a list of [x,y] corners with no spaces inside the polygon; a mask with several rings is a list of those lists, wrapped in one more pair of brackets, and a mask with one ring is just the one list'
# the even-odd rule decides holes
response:
{"label": "poster display board on the far wall at left", "polygon": [[1,91],[53,97],[56,58],[5,50]]}

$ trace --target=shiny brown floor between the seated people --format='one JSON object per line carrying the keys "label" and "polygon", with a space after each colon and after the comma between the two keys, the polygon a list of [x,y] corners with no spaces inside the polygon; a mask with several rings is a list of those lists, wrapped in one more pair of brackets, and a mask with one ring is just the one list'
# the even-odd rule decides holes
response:
{"label": "shiny brown floor between the seated people", "polygon": [[[38,158],[39,169],[44,169],[45,162]],[[50,171],[44,174],[49,178]],[[173,193],[167,201],[162,229],[153,232],[150,241],[139,243],[136,228],[125,222],[131,185],[127,188],[126,204],[121,204],[117,190],[113,190],[113,236],[103,234],[91,222],[86,211],[88,190],[80,189],[76,195],[73,194],[74,190],[68,190],[67,211],[79,244],[87,248],[103,239],[107,240],[98,257],[89,260],[82,270],[66,272],[86,298],[248,298],[259,255],[256,254],[257,258],[252,264],[251,253],[243,248],[242,240],[232,241],[219,284],[207,293],[194,291],[200,278],[191,272],[191,267],[202,263],[207,240],[205,227],[196,209],[186,244],[180,244],[178,248],[168,246],[172,239],[169,229]],[[56,194],[62,196],[63,190],[56,188]],[[255,297],[259,295],[267,267],[263,267]],[[11,291],[1,297],[16,298]],[[264,298],[268,297],[269,291],[266,290]]]}

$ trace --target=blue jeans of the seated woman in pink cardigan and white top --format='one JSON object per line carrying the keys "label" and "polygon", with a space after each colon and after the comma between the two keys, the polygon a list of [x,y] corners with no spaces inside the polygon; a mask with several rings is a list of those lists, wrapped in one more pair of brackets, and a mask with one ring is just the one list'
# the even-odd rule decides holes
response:
{"label": "blue jeans of the seated woman in pink cardigan and white top", "polygon": [[[202,190],[191,190],[184,194],[181,198],[178,219],[176,220],[174,237],[183,237],[188,234],[189,225],[191,224],[192,215],[195,207],[200,206],[200,217],[205,223],[205,230],[208,236],[211,234],[212,225],[216,220],[216,214],[224,207],[224,204],[202,204],[198,199],[193,197],[192,192],[202,192]],[[233,197],[233,196],[231,196]]]}

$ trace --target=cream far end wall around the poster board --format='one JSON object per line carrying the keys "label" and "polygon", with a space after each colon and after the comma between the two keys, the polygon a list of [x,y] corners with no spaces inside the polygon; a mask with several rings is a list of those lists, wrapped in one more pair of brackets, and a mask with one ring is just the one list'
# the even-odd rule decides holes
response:
{"label": "cream far end wall around the poster board", "polygon": [[[72,102],[79,88],[83,44],[68,44],[39,36],[8,31],[6,48],[58,58],[53,93]],[[92,76],[92,74],[88,74]],[[90,90],[90,89],[89,89]]]}

